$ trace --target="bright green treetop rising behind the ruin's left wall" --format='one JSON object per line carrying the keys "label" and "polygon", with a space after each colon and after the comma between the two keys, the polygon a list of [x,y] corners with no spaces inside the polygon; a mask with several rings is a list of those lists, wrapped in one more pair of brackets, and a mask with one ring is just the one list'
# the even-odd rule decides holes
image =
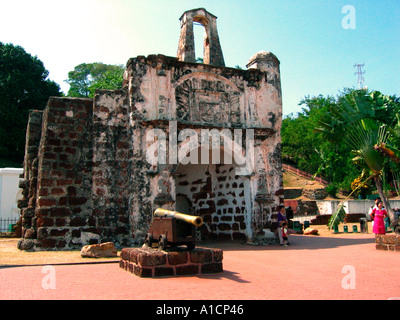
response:
{"label": "bright green treetop rising behind the ruin's left wall", "polygon": [[68,96],[93,98],[96,89],[119,89],[122,87],[124,67],[104,63],[82,63],[68,73],[70,85]]}

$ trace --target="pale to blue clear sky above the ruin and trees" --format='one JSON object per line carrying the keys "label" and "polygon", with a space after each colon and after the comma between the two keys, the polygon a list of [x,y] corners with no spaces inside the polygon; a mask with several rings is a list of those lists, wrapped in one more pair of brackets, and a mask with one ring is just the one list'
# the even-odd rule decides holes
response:
{"label": "pale to blue clear sky above the ruin and trees", "polygon": [[0,0],[0,42],[36,55],[67,92],[68,72],[83,62],[176,56],[179,17],[199,7],[218,17],[227,66],[245,68],[260,50],[278,57],[284,115],[305,96],[358,87],[356,63],[369,89],[400,96],[399,0]]}

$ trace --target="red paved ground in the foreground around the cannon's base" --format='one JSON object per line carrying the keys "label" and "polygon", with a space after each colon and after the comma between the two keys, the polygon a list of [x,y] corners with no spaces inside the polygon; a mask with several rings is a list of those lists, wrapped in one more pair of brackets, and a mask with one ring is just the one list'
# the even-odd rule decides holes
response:
{"label": "red paved ground in the foreground around the cannon's base", "polygon": [[[2,268],[0,299],[400,298],[400,252],[376,250],[374,235],[291,236],[291,242],[288,247],[219,244],[224,272],[200,276],[144,279],[117,263],[60,265],[55,266],[56,288],[44,289],[48,273],[42,273],[42,266]],[[348,265],[354,267],[355,289],[342,287]]]}

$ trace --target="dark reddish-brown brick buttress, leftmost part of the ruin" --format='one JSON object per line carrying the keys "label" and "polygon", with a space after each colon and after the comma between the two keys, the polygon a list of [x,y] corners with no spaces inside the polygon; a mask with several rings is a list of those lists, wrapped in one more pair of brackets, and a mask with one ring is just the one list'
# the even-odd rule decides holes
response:
{"label": "dark reddish-brown brick buttress, leftmost part of the ruin", "polygon": [[96,227],[90,219],[92,100],[50,98],[42,118],[40,129],[38,113],[28,125],[31,152],[25,156],[23,183],[28,203],[19,247],[74,248]]}

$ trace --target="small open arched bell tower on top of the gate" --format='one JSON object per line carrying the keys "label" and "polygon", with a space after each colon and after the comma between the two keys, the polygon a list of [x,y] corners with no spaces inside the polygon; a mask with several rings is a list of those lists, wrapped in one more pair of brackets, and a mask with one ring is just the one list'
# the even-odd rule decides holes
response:
{"label": "small open arched bell tower on top of the gate", "polygon": [[199,8],[184,12],[179,20],[181,21],[181,35],[178,44],[178,60],[196,62],[193,23],[198,22],[205,29],[203,62],[225,67],[217,31],[217,17],[204,8]]}

